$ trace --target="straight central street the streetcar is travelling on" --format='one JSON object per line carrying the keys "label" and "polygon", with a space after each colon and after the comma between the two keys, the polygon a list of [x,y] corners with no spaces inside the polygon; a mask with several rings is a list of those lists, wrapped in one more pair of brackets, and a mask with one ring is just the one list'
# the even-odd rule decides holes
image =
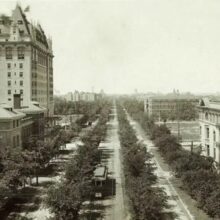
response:
{"label": "straight central street the streetcar is travelling on", "polygon": [[[130,219],[130,217],[125,203],[118,121],[115,108],[113,109],[111,117],[112,119],[108,123],[107,137],[104,142],[100,143],[99,149],[102,151],[102,164],[108,167],[109,178],[116,181],[115,195],[108,196],[102,200],[95,200],[93,202],[95,208],[93,208],[91,212],[102,211],[102,217],[100,219],[126,220]],[[113,191],[112,189],[112,192]],[[100,207],[102,207],[102,210],[100,210]]]}

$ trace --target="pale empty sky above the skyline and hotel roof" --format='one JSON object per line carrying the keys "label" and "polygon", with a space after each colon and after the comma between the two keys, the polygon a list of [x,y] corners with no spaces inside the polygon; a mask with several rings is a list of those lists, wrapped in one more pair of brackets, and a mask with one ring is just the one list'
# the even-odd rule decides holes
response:
{"label": "pale empty sky above the skyline and hotel roof", "polygon": [[[20,2],[52,36],[61,93],[220,91],[219,0]],[[0,0],[0,12],[15,5]]]}

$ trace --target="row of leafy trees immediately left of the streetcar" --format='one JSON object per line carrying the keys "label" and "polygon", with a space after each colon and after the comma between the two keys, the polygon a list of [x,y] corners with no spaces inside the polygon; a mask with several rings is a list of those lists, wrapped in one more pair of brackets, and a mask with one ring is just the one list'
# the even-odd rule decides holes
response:
{"label": "row of leafy trees immediately left of the streetcar", "polygon": [[95,166],[100,163],[98,146],[106,135],[110,106],[103,103],[97,125],[82,138],[84,144],[77,148],[75,157],[67,164],[64,179],[48,190],[46,203],[55,219],[78,219],[82,202],[93,194],[91,180]]}

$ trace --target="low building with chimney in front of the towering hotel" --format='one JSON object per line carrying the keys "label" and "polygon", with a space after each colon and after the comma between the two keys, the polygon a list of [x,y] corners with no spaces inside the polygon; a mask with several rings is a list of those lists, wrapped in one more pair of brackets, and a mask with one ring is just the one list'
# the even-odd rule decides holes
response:
{"label": "low building with chimney in front of the towering hotel", "polygon": [[44,139],[47,109],[37,102],[20,105],[20,95],[14,95],[14,106],[0,104],[0,146],[22,147],[31,137]]}

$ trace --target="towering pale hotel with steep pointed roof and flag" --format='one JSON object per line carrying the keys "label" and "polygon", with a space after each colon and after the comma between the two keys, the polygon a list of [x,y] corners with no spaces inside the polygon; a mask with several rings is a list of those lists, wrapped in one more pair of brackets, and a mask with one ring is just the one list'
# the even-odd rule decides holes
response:
{"label": "towering pale hotel with steep pointed roof and flag", "polygon": [[20,94],[21,106],[37,101],[53,115],[52,42],[19,5],[10,17],[0,16],[0,79],[0,103],[13,106]]}

